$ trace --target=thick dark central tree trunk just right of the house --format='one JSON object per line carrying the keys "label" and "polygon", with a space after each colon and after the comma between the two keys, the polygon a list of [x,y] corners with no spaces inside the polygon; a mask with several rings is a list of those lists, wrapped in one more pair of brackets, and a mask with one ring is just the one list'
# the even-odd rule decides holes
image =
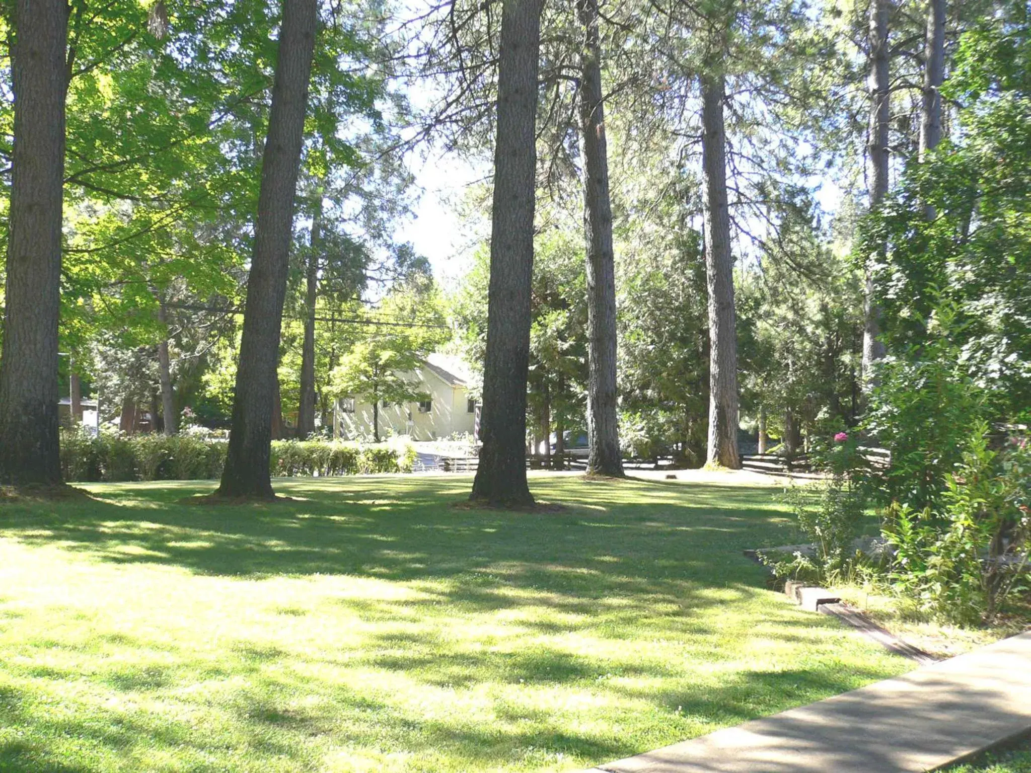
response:
{"label": "thick dark central tree trunk just right of the house", "polygon": [[542,0],[504,0],[498,70],[484,406],[472,499],[532,505],[526,482],[526,379],[536,196]]}

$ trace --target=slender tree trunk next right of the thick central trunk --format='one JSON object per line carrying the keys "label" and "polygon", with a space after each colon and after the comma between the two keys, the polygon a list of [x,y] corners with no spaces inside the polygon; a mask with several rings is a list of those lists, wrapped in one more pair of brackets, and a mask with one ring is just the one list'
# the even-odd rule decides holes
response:
{"label": "slender tree trunk next right of the thick central trunk", "polygon": [[589,473],[623,477],[616,391],[616,259],[608,190],[608,146],[601,90],[597,0],[578,0],[587,40],[580,55],[584,225],[587,235]]}

